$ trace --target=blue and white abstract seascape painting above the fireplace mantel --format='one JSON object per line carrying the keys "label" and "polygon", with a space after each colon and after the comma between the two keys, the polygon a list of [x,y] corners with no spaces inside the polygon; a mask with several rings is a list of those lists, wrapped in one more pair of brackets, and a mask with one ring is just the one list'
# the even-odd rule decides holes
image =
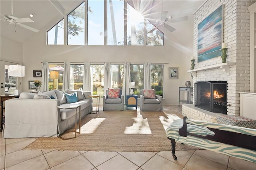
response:
{"label": "blue and white abstract seascape painting above the fireplace mantel", "polygon": [[223,9],[224,5],[217,8],[212,14],[198,24],[197,62],[221,55]]}

